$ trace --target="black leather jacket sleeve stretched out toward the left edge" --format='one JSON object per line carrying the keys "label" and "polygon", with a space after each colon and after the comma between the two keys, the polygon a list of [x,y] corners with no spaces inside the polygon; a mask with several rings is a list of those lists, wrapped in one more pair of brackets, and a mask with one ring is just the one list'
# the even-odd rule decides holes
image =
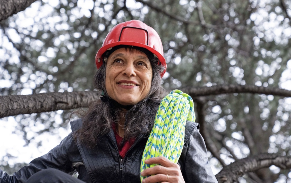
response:
{"label": "black leather jacket sleeve stretched out toward the left edge", "polygon": [[31,175],[47,168],[55,168],[72,175],[76,171],[68,158],[68,151],[72,145],[74,145],[74,140],[70,133],[47,154],[32,160],[28,166],[24,166],[13,175],[10,176],[0,170],[0,183],[25,183]]}

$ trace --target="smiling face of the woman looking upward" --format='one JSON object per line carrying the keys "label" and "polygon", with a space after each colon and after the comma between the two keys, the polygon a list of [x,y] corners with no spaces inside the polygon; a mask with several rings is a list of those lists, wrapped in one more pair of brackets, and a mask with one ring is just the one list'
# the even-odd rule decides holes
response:
{"label": "smiling face of the woman looking upward", "polygon": [[110,98],[133,105],[145,98],[152,84],[152,66],[145,53],[120,48],[106,62],[105,88]]}

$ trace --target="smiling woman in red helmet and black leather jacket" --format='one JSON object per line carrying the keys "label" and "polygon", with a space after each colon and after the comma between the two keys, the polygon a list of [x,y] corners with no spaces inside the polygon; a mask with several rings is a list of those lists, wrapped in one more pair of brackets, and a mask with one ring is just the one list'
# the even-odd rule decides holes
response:
{"label": "smiling woman in red helmet and black leather jacket", "polygon": [[[0,182],[217,182],[207,160],[198,124],[187,122],[178,163],[154,157],[158,164],[140,172],[143,149],[161,102],[166,71],[157,32],[138,20],[116,25],[96,55],[95,87],[102,90],[81,119],[71,122],[60,145]],[[61,171],[60,171],[61,170]],[[71,175],[78,172],[78,179]],[[149,176],[152,175],[152,176]]]}

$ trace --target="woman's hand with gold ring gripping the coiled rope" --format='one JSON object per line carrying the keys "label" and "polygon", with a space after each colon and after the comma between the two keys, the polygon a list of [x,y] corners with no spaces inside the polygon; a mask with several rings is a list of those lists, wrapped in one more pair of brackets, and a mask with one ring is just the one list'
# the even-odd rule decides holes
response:
{"label": "woman's hand with gold ring gripping the coiled rope", "polygon": [[152,168],[147,168],[141,172],[142,176],[152,175],[143,179],[142,183],[185,183],[180,170],[180,166],[163,156],[145,160],[146,164],[160,164]]}

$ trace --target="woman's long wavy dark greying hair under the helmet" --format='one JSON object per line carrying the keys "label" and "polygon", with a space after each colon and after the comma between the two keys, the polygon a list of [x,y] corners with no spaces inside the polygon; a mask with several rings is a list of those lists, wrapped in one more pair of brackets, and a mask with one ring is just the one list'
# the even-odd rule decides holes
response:
{"label": "woman's long wavy dark greying hair under the helmet", "polygon": [[[124,46],[125,47],[125,46]],[[114,47],[116,49],[120,47]],[[105,89],[105,75],[106,75],[106,63],[98,69],[94,76],[94,86],[99,90],[103,90],[105,96],[102,100],[98,99],[92,103],[87,112],[77,110],[74,113],[82,115],[83,125],[75,131],[74,139],[77,138],[86,147],[95,147],[98,142],[98,137],[108,133],[112,128],[112,125],[119,121],[121,117],[125,118],[125,124],[122,126],[125,129],[124,140],[129,138],[136,138],[141,133],[149,133],[152,130],[155,115],[161,102],[161,94],[163,88],[161,86],[160,73],[164,70],[164,67],[159,63],[159,59],[153,56],[148,50],[140,47],[125,47],[130,52],[133,49],[144,52],[152,65],[152,85],[148,95],[139,103],[133,105],[126,113],[124,110],[115,105],[115,101],[110,99]],[[114,51],[112,50],[111,53]],[[109,54],[111,54],[109,53]],[[109,56],[105,53],[105,57]],[[104,99],[105,98],[105,99]]]}

